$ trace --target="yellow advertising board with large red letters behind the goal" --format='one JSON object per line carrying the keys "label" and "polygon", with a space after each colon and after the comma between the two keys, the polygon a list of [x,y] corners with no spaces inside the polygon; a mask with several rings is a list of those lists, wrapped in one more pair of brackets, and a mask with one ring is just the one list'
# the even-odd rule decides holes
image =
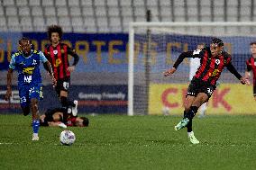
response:
{"label": "yellow advertising board with large red letters behind the goal", "polygon": [[[169,84],[150,86],[150,114],[182,115],[183,103],[187,94],[187,85]],[[252,96],[252,86],[242,84],[219,85],[209,102],[207,114],[256,114],[256,101]],[[168,108],[168,109],[167,109]]]}

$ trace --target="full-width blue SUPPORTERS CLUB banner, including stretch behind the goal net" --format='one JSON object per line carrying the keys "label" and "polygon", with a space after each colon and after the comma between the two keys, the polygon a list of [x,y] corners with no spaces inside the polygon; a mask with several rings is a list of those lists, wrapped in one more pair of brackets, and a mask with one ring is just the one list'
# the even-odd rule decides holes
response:
{"label": "full-width blue SUPPORTERS CLUB banner, including stretch behind the goal net", "polygon": [[[32,39],[34,49],[44,50],[50,43],[46,33],[27,32],[10,33],[0,32],[0,70],[8,68],[8,61],[12,53],[17,50],[18,40],[22,37]],[[210,42],[212,37],[188,36],[177,34],[160,34],[151,37],[151,70],[157,72],[160,67],[164,69],[173,65],[182,51],[196,49],[197,43]],[[255,37],[220,37],[224,40],[225,49],[233,55],[234,66],[244,71],[244,60],[250,55],[250,42]],[[128,34],[125,33],[65,33],[62,41],[76,50],[80,62],[76,71],[78,73],[90,72],[120,72],[128,71]],[[147,52],[145,34],[136,34],[134,44],[135,71],[144,67]],[[72,63],[72,62],[71,62]],[[242,64],[241,64],[242,63]],[[183,62],[180,70],[187,71],[188,63]]]}

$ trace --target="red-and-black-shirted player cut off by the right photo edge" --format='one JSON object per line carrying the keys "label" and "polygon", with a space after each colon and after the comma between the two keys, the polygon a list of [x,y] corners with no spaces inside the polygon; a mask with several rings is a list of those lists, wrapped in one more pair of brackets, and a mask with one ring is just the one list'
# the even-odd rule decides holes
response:
{"label": "red-and-black-shirted player cut off by the right photo edge", "polygon": [[246,60],[245,77],[250,78],[253,75],[253,96],[256,101],[256,41],[250,43],[251,58]]}

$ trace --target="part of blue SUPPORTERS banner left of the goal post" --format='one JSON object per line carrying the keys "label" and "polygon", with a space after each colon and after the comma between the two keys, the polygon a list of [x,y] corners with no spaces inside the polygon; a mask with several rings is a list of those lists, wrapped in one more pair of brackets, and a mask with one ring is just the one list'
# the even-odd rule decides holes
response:
{"label": "part of blue SUPPORTERS banner left of the goal post", "polygon": [[[30,38],[33,48],[41,51],[50,43],[47,34],[41,32],[0,33],[0,70],[8,69],[8,61],[23,36]],[[62,41],[75,49],[80,57],[77,72],[127,72],[127,34],[65,33]]]}

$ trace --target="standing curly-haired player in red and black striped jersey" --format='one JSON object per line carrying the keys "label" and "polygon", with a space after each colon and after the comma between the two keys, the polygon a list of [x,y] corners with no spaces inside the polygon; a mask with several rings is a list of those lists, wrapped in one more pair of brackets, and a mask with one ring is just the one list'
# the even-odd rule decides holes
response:
{"label": "standing curly-haired player in red and black striped jersey", "polygon": [[[54,76],[57,80],[55,90],[59,96],[62,107],[69,108],[71,106],[72,113],[76,116],[78,113],[78,101],[69,101],[68,93],[70,74],[75,70],[79,57],[67,44],[60,42],[62,34],[63,31],[59,25],[51,25],[48,27],[50,45],[44,50],[44,55],[50,61]],[[69,55],[74,58],[72,66],[69,66]]]}

